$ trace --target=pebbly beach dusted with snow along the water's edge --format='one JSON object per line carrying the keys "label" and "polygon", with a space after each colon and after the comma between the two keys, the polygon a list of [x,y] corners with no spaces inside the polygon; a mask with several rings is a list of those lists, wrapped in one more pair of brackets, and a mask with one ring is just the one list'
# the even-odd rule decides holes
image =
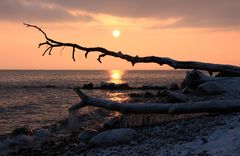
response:
{"label": "pebbly beach dusted with snow along the water's edge", "polygon": [[[217,81],[226,89],[224,94],[192,96],[194,101],[240,99],[240,87],[238,87],[240,78],[218,78]],[[95,118],[95,121],[91,121],[92,116],[98,114],[96,112],[101,115],[98,116],[98,120]],[[17,155],[216,155],[219,152],[226,154],[230,152],[234,155],[239,152],[232,146],[236,144],[240,147],[240,141],[238,141],[240,113],[210,113],[163,122],[156,126],[133,128],[137,132],[137,139],[129,144],[90,148],[87,144],[79,142],[78,135],[86,129],[102,131],[102,117],[104,115],[105,117],[111,116],[106,110],[96,109],[96,112],[86,115],[85,119],[88,125],[82,122],[85,126],[77,131],[66,129],[67,120],[52,125],[52,127],[45,127],[48,130],[55,130],[49,130],[50,134],[38,145],[33,146],[32,144],[30,147],[20,148]],[[217,143],[224,143],[229,137],[231,140],[227,140],[228,144],[224,144],[222,148],[217,147]],[[38,152],[36,153],[36,151]],[[7,155],[16,155],[16,152],[7,152]]]}

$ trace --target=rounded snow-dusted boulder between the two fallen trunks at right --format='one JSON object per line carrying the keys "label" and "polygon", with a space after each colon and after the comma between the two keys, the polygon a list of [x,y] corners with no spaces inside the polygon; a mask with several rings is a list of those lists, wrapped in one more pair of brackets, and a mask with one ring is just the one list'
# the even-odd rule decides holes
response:
{"label": "rounded snow-dusted boulder between the two fallen trunks at right", "polygon": [[222,94],[225,92],[225,89],[222,88],[218,83],[216,82],[206,82],[204,84],[201,84],[198,86],[197,91],[200,94],[205,95],[217,95]]}

